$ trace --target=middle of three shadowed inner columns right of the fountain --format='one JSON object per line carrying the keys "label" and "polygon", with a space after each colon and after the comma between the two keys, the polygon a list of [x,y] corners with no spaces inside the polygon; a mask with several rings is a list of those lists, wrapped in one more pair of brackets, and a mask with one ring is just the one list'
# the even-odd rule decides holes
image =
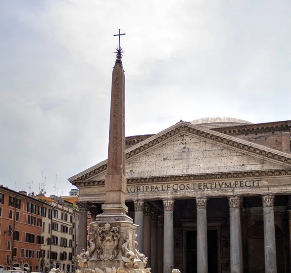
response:
{"label": "middle of three shadowed inner columns right of the fountain", "polygon": [[151,273],[158,273],[158,211],[151,212]]}

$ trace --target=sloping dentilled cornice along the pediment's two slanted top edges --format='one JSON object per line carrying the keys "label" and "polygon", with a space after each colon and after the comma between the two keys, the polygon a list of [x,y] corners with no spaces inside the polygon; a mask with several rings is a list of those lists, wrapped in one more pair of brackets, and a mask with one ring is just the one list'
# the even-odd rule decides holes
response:
{"label": "sloping dentilled cornice along the pediment's two slanted top edges", "polygon": [[[235,149],[242,150],[244,152],[249,152],[250,154],[257,155],[261,158],[267,158],[275,161],[279,164],[285,164],[288,167],[291,167],[291,155],[277,151],[275,149],[268,148],[266,146],[261,146],[254,144],[242,139],[235,138],[233,136],[216,132],[210,129],[202,128],[199,126],[194,126],[189,123],[180,122],[161,133],[149,137],[145,141],[138,143],[132,147],[129,147],[126,150],[126,159],[134,157],[135,155],[144,152],[153,146],[159,145],[160,143],[169,140],[170,138],[181,134],[189,133],[194,134],[195,136],[208,139],[213,142],[220,143],[224,146],[231,146]],[[76,182],[84,181],[96,176],[97,174],[105,171],[107,169],[107,160],[85,170],[85,174],[78,174],[74,177],[69,178],[68,180],[73,184],[77,185]]]}

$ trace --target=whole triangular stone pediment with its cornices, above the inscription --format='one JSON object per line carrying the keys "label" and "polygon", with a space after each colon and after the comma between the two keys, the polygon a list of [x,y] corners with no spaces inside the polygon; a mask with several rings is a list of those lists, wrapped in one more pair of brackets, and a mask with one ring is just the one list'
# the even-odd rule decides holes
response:
{"label": "whole triangular stone pediment with its cornices, above the inscription", "polygon": [[[180,122],[126,151],[127,178],[291,169],[291,155]],[[107,161],[69,179],[103,180]]]}

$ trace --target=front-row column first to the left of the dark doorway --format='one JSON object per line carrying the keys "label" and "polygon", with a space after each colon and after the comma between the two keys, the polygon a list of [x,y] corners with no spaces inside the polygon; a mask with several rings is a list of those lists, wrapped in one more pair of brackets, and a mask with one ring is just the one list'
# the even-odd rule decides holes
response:
{"label": "front-row column first to the left of the dark doorway", "polygon": [[174,266],[174,199],[163,200],[164,207],[164,242],[163,273],[171,273]]}

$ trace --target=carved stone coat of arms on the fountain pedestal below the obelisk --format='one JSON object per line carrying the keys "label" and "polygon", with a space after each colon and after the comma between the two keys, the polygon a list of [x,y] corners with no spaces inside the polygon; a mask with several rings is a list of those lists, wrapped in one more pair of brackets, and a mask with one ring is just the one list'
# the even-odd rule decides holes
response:
{"label": "carved stone coat of arms on the fountain pedestal below the obelisk", "polygon": [[100,249],[98,255],[104,262],[113,260],[118,254],[116,249],[120,234],[118,233],[119,226],[111,227],[106,223],[104,227],[98,227],[97,241]]}

